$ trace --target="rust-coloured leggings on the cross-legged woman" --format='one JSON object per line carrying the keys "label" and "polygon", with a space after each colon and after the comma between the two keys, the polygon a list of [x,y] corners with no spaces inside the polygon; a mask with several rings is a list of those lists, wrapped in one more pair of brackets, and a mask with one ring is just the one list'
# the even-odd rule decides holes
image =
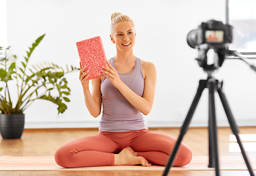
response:
{"label": "rust-coloured leggings on the cross-legged woman", "polygon": [[[143,156],[151,164],[165,165],[177,139],[163,133],[153,133],[147,129],[128,132],[105,132],[86,136],[65,144],[56,150],[56,164],[63,167],[111,166],[114,154],[125,147],[132,147],[138,156]],[[189,164],[192,153],[181,143],[174,166]]]}

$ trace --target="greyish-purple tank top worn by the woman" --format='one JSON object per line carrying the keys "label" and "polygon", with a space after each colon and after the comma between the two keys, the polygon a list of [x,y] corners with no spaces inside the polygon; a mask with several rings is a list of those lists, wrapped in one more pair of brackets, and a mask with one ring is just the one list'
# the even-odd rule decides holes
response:
{"label": "greyish-purple tank top worn by the woman", "polygon": [[[114,57],[109,63],[114,67]],[[120,79],[137,95],[142,96],[144,91],[144,76],[141,60],[136,57],[134,70],[128,74],[118,73]],[[142,112],[138,111],[120,91],[104,77],[100,84],[103,112],[100,120],[100,131],[125,132],[147,128]]]}

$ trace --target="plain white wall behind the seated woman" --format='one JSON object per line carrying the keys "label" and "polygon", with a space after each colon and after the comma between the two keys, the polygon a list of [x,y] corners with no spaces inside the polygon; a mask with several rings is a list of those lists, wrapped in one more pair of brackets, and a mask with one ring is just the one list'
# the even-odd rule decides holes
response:
{"label": "plain white wall behind the seated woman", "polygon": [[[136,24],[134,54],[153,62],[158,70],[156,100],[146,117],[149,126],[180,126],[206,74],[194,58],[197,51],[189,48],[186,36],[203,21],[225,19],[224,0],[8,0],[8,45],[15,54],[24,56],[34,40],[46,34],[32,55],[33,62],[50,61],[59,65],[76,65],[76,42],[100,35],[106,56],[115,55],[109,40],[112,12],[130,15]],[[224,90],[238,125],[256,125],[256,75],[241,61],[226,60],[216,74],[224,79]],[[71,102],[64,114],[56,106],[38,100],[26,113],[25,128],[98,127],[84,106],[78,72],[67,76]],[[205,126],[208,122],[208,90],[202,95],[191,122]],[[219,98],[216,96],[219,125],[227,125]]]}

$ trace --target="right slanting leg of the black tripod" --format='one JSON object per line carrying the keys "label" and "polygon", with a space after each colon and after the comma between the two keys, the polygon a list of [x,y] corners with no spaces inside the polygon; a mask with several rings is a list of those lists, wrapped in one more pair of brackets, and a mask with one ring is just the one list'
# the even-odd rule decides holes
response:
{"label": "right slanting leg of the black tripod", "polygon": [[227,98],[224,95],[224,92],[223,92],[223,89],[222,89],[222,85],[220,85],[218,87],[218,93],[219,93],[219,98],[222,101],[222,105],[224,107],[224,111],[226,112],[227,120],[228,120],[228,122],[230,122],[230,128],[233,131],[233,134],[235,135],[235,138],[236,138],[236,140],[237,140],[237,142],[239,144],[239,147],[241,149],[241,153],[242,153],[242,155],[244,157],[244,161],[246,163],[248,171],[249,171],[251,176],[255,175],[254,172],[252,171],[251,165],[249,164],[249,160],[247,159],[246,152],[244,150],[244,145],[242,144],[240,136],[239,136],[238,125],[236,125],[236,123],[235,123],[235,119],[234,119],[233,114],[231,112],[230,106],[227,103]]}

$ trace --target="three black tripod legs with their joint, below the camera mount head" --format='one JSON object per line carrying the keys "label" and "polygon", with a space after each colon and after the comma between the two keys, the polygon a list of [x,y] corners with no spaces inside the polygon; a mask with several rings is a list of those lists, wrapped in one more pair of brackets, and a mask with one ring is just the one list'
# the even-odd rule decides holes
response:
{"label": "three black tripod legs with their joint, below the camera mount head", "polygon": [[209,121],[208,121],[208,133],[209,133],[209,165],[208,167],[215,168],[216,176],[220,175],[219,172],[219,152],[218,152],[218,140],[217,140],[217,125],[216,125],[216,109],[215,109],[215,99],[214,99],[214,93],[218,92],[219,98],[222,101],[222,106],[224,108],[224,111],[227,115],[227,120],[230,123],[230,128],[233,131],[233,134],[235,135],[235,138],[239,144],[239,147],[241,149],[241,153],[244,157],[244,161],[246,163],[246,166],[248,168],[248,171],[251,176],[254,176],[254,172],[252,171],[252,167],[249,164],[249,160],[246,157],[246,152],[244,150],[244,146],[241,143],[240,136],[238,135],[239,129],[238,126],[235,123],[235,119],[233,117],[233,114],[230,110],[230,106],[227,103],[227,98],[224,95],[223,89],[222,89],[223,81],[219,82],[216,78],[213,78],[211,76],[211,73],[208,73],[208,78],[206,80],[200,80],[197,94],[194,97],[194,100],[190,106],[189,112],[186,115],[186,119],[183,122],[182,127],[180,128],[180,136],[178,137],[178,140],[175,144],[175,148],[172,150],[172,155],[169,157],[169,161],[166,165],[166,168],[164,170],[163,176],[167,176],[170,167],[172,166],[172,163],[175,159],[175,155],[178,152],[178,149],[180,147],[180,143],[183,139],[183,136],[185,135],[186,131],[189,128],[189,123],[191,122],[191,119],[193,117],[194,111],[197,108],[197,104],[201,98],[202,91],[205,88],[208,88],[209,90]]}

